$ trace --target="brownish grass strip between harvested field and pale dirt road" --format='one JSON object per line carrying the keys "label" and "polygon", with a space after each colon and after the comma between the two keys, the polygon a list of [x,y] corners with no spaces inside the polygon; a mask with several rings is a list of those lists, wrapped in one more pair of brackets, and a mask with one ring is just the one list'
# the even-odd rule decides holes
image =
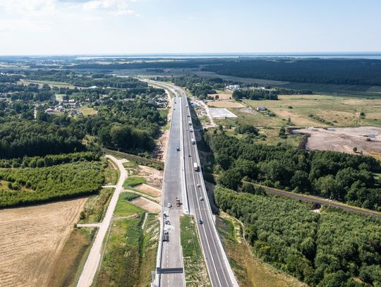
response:
{"label": "brownish grass strip between harvested field and pale dirt road", "polygon": [[74,228],[63,246],[48,286],[76,286],[96,230],[97,228]]}

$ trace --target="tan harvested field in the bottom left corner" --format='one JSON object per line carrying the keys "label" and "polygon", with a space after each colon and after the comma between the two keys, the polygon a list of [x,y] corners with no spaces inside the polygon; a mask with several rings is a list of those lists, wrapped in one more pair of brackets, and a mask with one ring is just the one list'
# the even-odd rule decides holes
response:
{"label": "tan harvested field in the bottom left corner", "polygon": [[48,286],[86,200],[0,210],[0,286]]}

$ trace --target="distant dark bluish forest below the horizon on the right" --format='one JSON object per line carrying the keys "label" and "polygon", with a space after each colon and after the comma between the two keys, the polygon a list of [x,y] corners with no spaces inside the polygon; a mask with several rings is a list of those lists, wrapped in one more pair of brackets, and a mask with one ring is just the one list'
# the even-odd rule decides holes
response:
{"label": "distant dark bluish forest below the horizon on the right", "polygon": [[202,70],[297,83],[381,85],[381,60],[370,59],[226,59]]}

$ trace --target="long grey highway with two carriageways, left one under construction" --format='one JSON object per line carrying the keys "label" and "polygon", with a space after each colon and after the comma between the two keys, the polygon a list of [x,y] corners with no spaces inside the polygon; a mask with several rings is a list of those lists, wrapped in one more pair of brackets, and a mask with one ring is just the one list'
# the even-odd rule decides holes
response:
{"label": "long grey highway with two carriageways, left one under construction", "polygon": [[[183,267],[182,260],[179,259],[179,256],[182,255],[181,246],[178,241],[180,239],[179,216],[181,211],[183,213],[190,212],[195,217],[202,254],[210,276],[210,283],[212,283],[213,287],[238,286],[222,247],[217,228],[214,225],[200,169],[197,144],[192,142],[192,139],[195,139],[195,132],[193,131],[193,124],[189,124],[192,120],[186,93],[174,85],[153,81],[148,82],[161,85],[165,89],[171,90],[176,96],[169,142],[167,144],[162,194],[163,211],[167,214],[169,213],[171,224],[169,226],[164,225],[164,230],[166,228],[169,229],[169,243],[163,243],[161,257],[159,258],[162,265],[161,270]],[[178,97],[179,94],[181,97]],[[180,147],[180,151],[177,151],[176,147]],[[198,165],[198,171],[195,171],[193,168],[195,162]],[[184,203],[182,208],[176,207],[176,197],[182,199],[181,202]],[[169,202],[172,204],[171,208],[167,207]],[[199,223],[200,220],[202,220],[202,224]],[[164,274],[162,271],[162,274],[159,274],[160,286],[185,286],[185,281],[181,281],[180,275],[183,276],[183,274],[176,273]]]}

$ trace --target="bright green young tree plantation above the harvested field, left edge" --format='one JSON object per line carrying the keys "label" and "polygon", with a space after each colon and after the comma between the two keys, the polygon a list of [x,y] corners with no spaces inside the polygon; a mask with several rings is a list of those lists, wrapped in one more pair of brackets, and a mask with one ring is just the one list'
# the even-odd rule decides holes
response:
{"label": "bright green young tree plantation above the harvested field, left edge", "polygon": [[0,189],[0,207],[15,207],[52,200],[91,195],[104,181],[104,163],[76,161],[48,167],[0,169],[0,180],[9,190]]}

